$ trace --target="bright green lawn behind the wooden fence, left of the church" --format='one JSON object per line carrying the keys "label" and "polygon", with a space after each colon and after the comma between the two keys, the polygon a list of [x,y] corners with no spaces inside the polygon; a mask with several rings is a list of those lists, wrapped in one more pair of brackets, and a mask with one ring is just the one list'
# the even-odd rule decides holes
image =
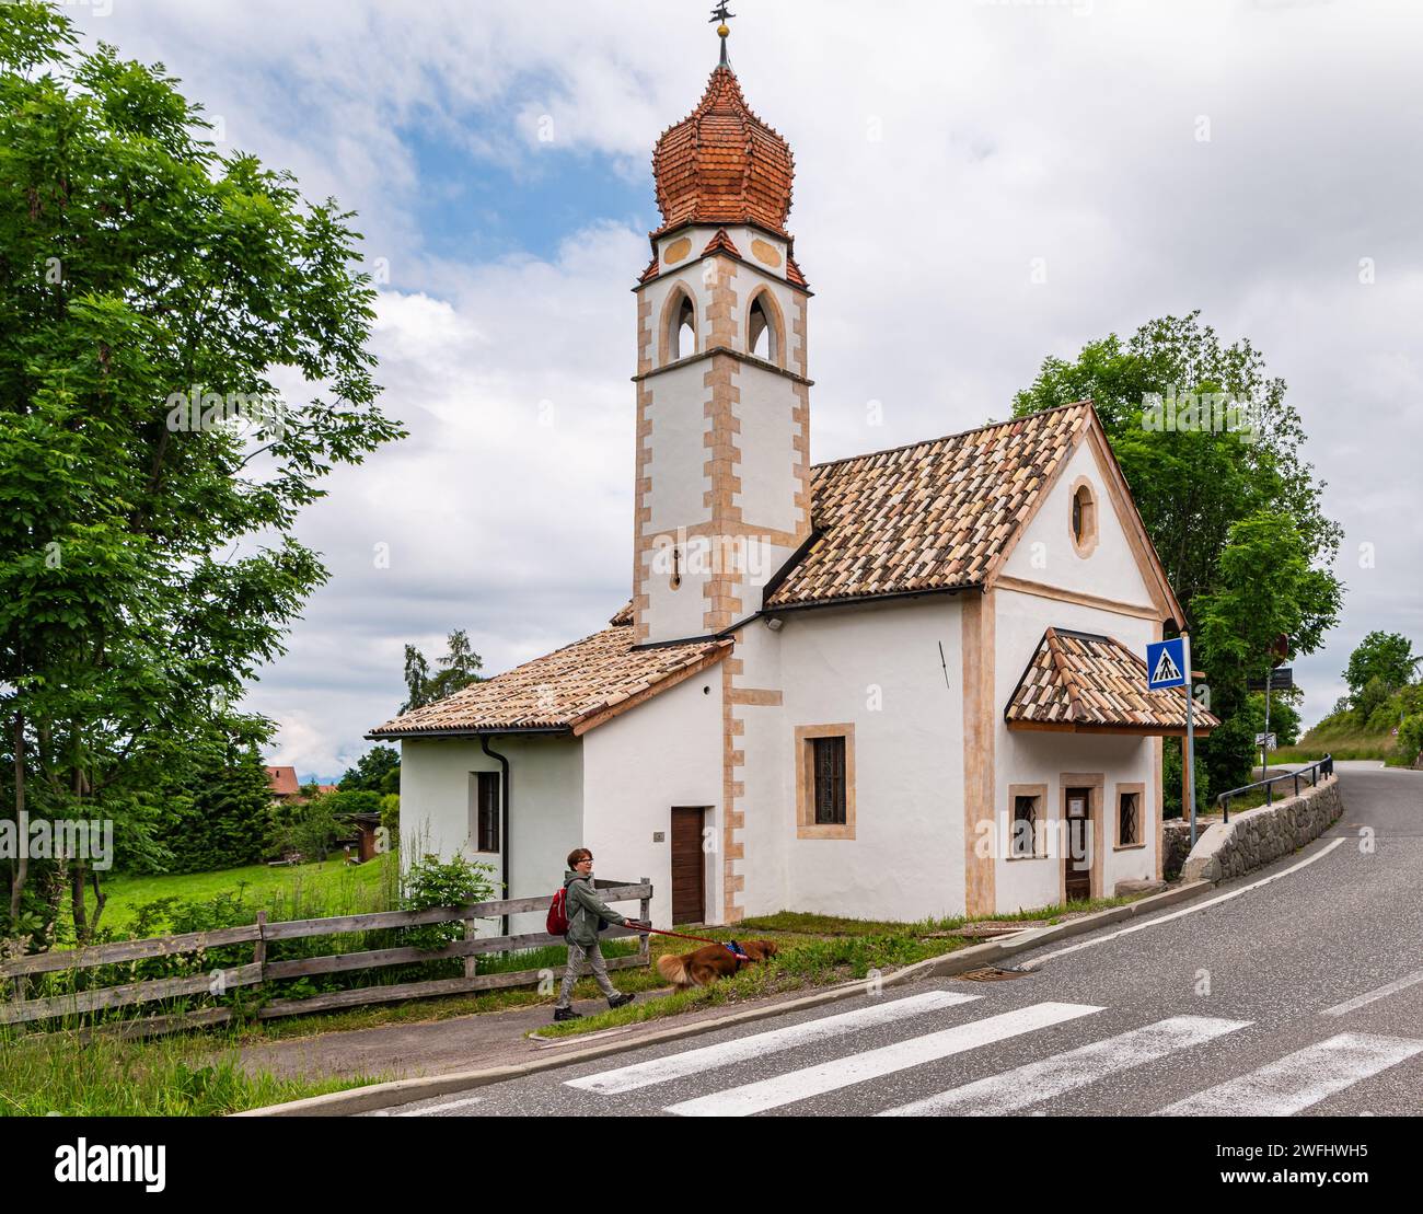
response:
{"label": "bright green lawn behind the wooden fence, left of the church", "polygon": [[[249,864],[245,868],[178,875],[117,874],[104,878],[102,888],[108,901],[104,904],[100,927],[111,927],[124,935],[129,931],[135,911],[144,902],[157,898],[206,901],[221,894],[242,894],[253,905],[265,907],[268,918],[383,911],[388,909],[388,882],[394,875],[396,862],[396,854],[390,853],[357,865],[347,865],[344,857],[336,857],[324,864],[280,868]],[[92,902],[90,914],[92,915]],[[68,915],[67,904],[64,915]]]}

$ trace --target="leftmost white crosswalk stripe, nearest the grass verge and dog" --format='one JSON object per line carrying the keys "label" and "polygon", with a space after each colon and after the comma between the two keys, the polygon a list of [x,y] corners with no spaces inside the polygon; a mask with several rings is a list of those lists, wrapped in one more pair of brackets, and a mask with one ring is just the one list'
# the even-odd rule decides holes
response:
{"label": "leftmost white crosswalk stripe, nearest the grass verge and dog", "polygon": [[620,1066],[616,1070],[601,1070],[596,1075],[569,1079],[566,1086],[605,1094],[632,1092],[638,1087],[649,1087],[653,1083],[666,1083],[670,1079],[683,1079],[703,1070],[746,1062],[748,1057],[761,1057],[828,1038],[859,1032],[861,1029],[892,1025],[896,1020],[905,1020],[911,1016],[939,1012],[943,1008],[952,1008],[959,1003],[972,1003],[982,998],[982,995],[962,995],[958,991],[929,991],[925,995],[911,995],[908,999],[887,999],[872,1003],[868,1008],[857,1008],[854,1012],[842,1012],[837,1016],[825,1016],[784,1029],[773,1029],[766,1033],[753,1033],[748,1038],[737,1038],[729,1042],[719,1042],[717,1045],[702,1046],[700,1049],[683,1050],[667,1057],[655,1057],[650,1062]]}

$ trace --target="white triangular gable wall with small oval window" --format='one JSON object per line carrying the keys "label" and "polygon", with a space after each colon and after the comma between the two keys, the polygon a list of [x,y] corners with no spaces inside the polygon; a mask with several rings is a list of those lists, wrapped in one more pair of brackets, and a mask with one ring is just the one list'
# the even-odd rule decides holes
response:
{"label": "white triangular gable wall with small oval window", "polygon": [[[1072,542],[1072,487],[1079,477],[1091,482],[1097,500],[1099,539],[1090,556],[1079,556]],[[1003,574],[1137,606],[1151,605],[1146,579],[1107,494],[1106,475],[1086,440],[1069,457]]]}

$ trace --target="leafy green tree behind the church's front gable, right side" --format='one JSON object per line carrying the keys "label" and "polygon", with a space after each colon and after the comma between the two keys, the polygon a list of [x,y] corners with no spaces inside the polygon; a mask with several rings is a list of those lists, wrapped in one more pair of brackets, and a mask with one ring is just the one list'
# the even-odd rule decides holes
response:
{"label": "leafy green tree behind the church's front gable, right side", "polygon": [[[1255,733],[1247,677],[1268,667],[1279,632],[1296,652],[1313,652],[1342,599],[1329,572],[1340,531],[1321,510],[1323,482],[1302,457],[1299,416],[1259,352],[1248,340],[1227,346],[1198,312],[1151,320],[1127,340],[1109,334],[1073,361],[1044,360],[1013,413],[1086,398],[1181,602],[1192,662],[1222,719],[1198,746],[1205,780],[1197,784],[1244,783]],[[1161,401],[1181,407],[1174,428],[1160,417]]]}

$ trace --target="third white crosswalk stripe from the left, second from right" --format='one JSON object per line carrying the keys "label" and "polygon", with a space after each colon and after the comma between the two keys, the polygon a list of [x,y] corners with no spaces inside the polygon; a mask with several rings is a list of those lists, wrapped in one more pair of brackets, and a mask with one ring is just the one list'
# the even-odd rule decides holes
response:
{"label": "third white crosswalk stripe from the left, second from right", "polygon": [[887,1109],[878,1116],[922,1117],[953,1113],[988,1117],[1012,1113],[1064,1092],[1086,1087],[1109,1075],[1155,1062],[1175,1050],[1204,1045],[1225,1033],[1248,1028],[1249,1023],[1249,1020],[1222,1020],[1215,1016],[1173,1016],[1056,1057],[990,1075],[911,1104]]}

